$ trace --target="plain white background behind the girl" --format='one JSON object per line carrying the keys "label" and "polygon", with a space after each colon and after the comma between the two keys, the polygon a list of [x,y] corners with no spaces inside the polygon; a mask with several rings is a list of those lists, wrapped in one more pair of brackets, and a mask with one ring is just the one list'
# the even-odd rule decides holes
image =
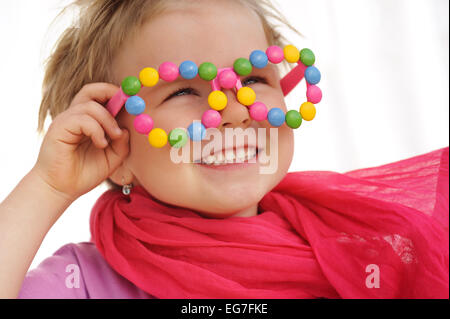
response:
{"label": "plain white background behind the girl", "polygon": [[[0,200],[34,165],[43,61],[69,19],[67,1],[0,2]],[[345,172],[449,144],[448,0],[278,0],[316,54],[324,98],[296,132],[291,171]],[[304,101],[304,82],[287,98]],[[47,123],[48,125],[48,123]],[[105,187],[74,202],[31,268],[69,242],[89,240],[89,213]],[[24,198],[26,200],[26,198]],[[5,262],[5,261],[0,261]]]}

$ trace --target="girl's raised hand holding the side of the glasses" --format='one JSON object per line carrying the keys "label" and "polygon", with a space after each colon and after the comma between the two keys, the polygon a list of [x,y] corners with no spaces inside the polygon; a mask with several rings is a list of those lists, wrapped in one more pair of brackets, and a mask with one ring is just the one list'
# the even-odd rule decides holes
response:
{"label": "girl's raised hand holding the side of the glasses", "polygon": [[108,178],[128,155],[128,131],[100,104],[118,90],[107,83],[84,86],[44,137],[33,170],[71,201]]}

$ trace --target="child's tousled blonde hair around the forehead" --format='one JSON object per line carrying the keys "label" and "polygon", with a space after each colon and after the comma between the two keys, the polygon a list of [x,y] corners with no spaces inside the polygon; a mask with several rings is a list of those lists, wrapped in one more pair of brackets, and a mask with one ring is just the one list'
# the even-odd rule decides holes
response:
{"label": "child's tousled blonde hair around the forehead", "polygon": [[[186,0],[185,0],[186,1]],[[285,38],[276,30],[285,26],[301,36],[270,0],[236,0],[260,17],[270,45],[283,47]],[[167,0],[76,0],[58,15],[78,9],[73,25],[56,42],[45,62],[38,132],[43,133],[48,114],[55,118],[88,83],[112,82],[111,64],[124,40],[163,11]],[[280,25],[276,25],[279,23]]]}

